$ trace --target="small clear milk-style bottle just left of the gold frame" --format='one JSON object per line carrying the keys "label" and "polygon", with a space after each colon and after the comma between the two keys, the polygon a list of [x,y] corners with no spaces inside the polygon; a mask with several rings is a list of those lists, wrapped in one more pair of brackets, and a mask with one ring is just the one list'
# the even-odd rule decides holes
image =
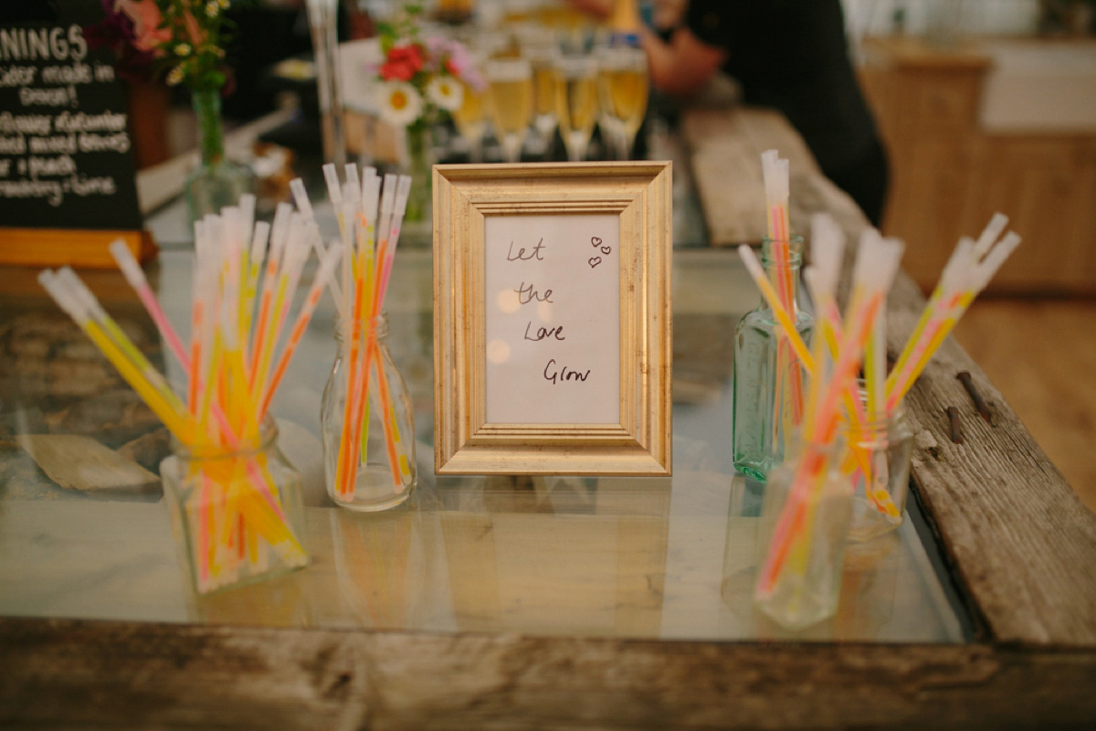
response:
{"label": "small clear milk-style bottle just left of the gold frame", "polygon": [[[388,319],[364,320],[361,328],[363,352],[355,358],[335,323],[338,353],[320,412],[324,482],[343,507],[383,511],[407,500],[418,480],[414,423],[407,385],[388,352]],[[368,364],[364,373],[362,364]]]}

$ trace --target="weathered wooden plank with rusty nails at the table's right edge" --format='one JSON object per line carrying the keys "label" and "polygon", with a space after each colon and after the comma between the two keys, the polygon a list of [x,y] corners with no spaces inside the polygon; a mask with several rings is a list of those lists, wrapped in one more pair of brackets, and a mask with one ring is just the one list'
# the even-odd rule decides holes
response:
{"label": "weathered wooden plank with rusty nails at the table's right edge", "polygon": [[[900,278],[889,344],[900,349],[923,299]],[[994,409],[990,425],[956,379],[969,370]],[[966,439],[947,437],[959,408]],[[949,338],[906,397],[918,446],[913,475],[945,546],[995,639],[1096,644],[1096,515],[1016,412]]]}

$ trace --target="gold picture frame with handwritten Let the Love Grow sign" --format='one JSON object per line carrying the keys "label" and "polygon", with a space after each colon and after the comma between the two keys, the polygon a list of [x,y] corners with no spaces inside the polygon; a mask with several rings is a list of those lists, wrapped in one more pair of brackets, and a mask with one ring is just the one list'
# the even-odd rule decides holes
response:
{"label": "gold picture frame with handwritten Let the Love Grow sign", "polygon": [[670,472],[670,181],[434,168],[437,472]]}

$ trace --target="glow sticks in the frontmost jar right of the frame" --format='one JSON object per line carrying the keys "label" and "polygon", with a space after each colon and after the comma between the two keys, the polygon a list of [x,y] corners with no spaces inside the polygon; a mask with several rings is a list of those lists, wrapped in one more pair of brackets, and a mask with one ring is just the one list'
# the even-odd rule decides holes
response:
{"label": "glow sticks in the frontmost jar right of the frame", "polygon": [[[750,261],[749,248],[740,249]],[[833,330],[836,347],[831,356],[823,350],[826,334],[814,339],[813,377],[806,403],[803,442],[807,445],[830,445],[834,442],[841,420],[842,404],[855,389],[856,373],[864,355],[875,320],[886,307],[887,292],[898,272],[902,255],[901,243],[884,240],[872,229],[865,231],[853,273],[852,297],[844,322],[831,317],[820,318],[822,329]],[[754,260],[754,263],[755,260]],[[747,266],[753,264],[747,263]],[[827,261],[811,266],[803,276],[814,301],[823,312],[831,311],[835,301],[838,266]],[[809,562],[813,512],[832,467],[824,449],[808,449],[795,467],[791,486],[777,518],[772,542],[757,580],[757,596],[772,596],[780,581],[799,583],[804,580]],[[850,488],[849,488],[850,491]]]}

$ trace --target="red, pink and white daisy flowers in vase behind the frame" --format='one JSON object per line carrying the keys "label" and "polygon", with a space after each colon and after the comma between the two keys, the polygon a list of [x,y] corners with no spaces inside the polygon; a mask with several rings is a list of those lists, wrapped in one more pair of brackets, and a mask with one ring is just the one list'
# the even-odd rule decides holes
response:
{"label": "red, pink and white daisy flowers in vase behind the frame", "polygon": [[461,43],[422,37],[421,14],[421,7],[409,4],[377,28],[385,55],[375,70],[380,117],[402,130],[400,164],[412,178],[406,222],[430,220],[435,125],[460,108],[461,82],[477,90],[486,87]]}

